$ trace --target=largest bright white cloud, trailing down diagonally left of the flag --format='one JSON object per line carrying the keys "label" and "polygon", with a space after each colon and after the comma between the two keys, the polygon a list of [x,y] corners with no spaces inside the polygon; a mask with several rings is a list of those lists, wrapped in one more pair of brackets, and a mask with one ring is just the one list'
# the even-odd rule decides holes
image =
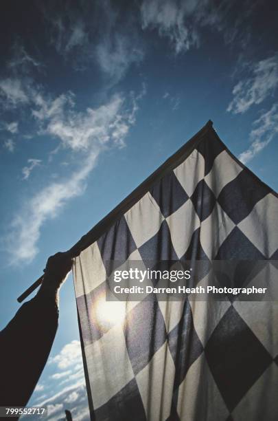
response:
{"label": "largest bright white cloud, trailing down diagonally left of the flag", "polygon": [[[10,233],[5,237],[5,250],[10,263],[28,263],[38,252],[40,229],[48,219],[60,213],[70,199],[82,195],[86,180],[97,163],[100,153],[111,147],[123,147],[130,127],[135,124],[139,96],[130,100],[115,94],[105,105],[88,108],[83,113],[74,108],[72,94],[47,100],[41,94],[32,94],[33,114],[40,125],[39,133],[47,133],[60,142],[61,147],[75,155],[76,169],[60,181],[52,181],[26,202],[25,208],[14,216]],[[130,102],[131,101],[131,102]],[[27,178],[39,162],[25,167]]]}

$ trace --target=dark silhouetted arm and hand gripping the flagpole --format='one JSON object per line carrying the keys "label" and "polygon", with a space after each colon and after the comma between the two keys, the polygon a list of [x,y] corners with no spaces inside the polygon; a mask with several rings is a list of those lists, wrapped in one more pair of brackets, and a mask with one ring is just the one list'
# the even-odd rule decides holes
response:
{"label": "dark silhouetted arm and hand gripping the flagpole", "polygon": [[47,261],[36,296],[0,332],[0,406],[25,407],[45,367],[58,327],[58,288],[71,269],[63,253]]}

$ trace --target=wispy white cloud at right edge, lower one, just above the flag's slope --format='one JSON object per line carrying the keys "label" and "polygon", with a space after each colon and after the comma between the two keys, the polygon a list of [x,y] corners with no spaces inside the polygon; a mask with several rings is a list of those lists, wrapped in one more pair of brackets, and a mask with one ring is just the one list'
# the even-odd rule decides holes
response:
{"label": "wispy white cloud at right edge, lower one, just above the flag's slope", "polygon": [[243,164],[251,161],[257,153],[262,151],[278,134],[278,104],[262,116],[260,116],[253,123],[255,129],[250,133],[251,145],[246,151],[240,154],[240,161]]}

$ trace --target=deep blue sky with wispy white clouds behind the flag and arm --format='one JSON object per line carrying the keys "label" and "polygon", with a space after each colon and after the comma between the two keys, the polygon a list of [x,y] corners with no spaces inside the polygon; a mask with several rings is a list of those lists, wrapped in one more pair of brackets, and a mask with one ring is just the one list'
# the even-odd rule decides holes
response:
{"label": "deep blue sky with wispy white clouds behind the flag and arm", "polygon": [[[2,0],[0,328],[17,296],[211,119],[277,191],[275,1]],[[72,277],[30,405],[88,419]],[[45,418],[44,418],[45,419]]]}

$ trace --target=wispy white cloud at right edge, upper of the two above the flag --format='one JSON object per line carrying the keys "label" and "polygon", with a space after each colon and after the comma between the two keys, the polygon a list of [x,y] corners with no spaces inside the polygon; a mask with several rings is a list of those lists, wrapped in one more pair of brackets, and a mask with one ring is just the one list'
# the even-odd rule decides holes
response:
{"label": "wispy white cloud at right edge, upper of the two above the flag", "polygon": [[252,105],[258,105],[274,94],[278,85],[278,54],[250,65],[250,76],[233,87],[233,100],[227,111],[243,114]]}

